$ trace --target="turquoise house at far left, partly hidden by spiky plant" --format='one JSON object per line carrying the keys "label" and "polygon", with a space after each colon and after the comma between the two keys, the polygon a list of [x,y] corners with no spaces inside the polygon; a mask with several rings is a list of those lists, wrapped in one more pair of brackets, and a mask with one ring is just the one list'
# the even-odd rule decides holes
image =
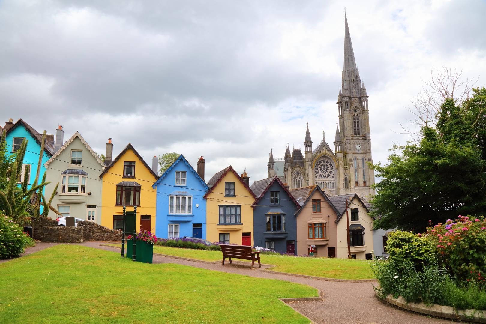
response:
{"label": "turquoise house at far left, partly hidden by spiky plant", "polygon": [[[12,119],[9,119],[5,123],[2,132],[7,132],[6,148],[8,154],[14,154],[20,148],[22,141],[27,139],[27,150],[25,152],[24,160],[22,161],[22,176],[19,184],[24,181],[25,177],[28,180],[28,188],[31,188],[34,184],[35,175],[37,173],[37,165],[39,162],[39,154],[42,143],[42,135],[39,134],[32,126],[27,124],[23,119],[18,119],[15,123]],[[42,176],[46,171],[44,163],[46,163],[54,154],[54,136],[46,136],[44,142],[44,151],[42,153],[42,161],[40,164],[39,178],[37,184],[41,182]],[[30,171],[28,174],[25,173],[26,166],[30,166]]]}

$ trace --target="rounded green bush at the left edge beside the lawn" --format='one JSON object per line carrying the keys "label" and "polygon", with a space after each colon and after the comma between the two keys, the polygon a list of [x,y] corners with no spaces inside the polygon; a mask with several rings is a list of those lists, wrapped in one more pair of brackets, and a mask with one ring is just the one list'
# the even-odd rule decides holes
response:
{"label": "rounded green bush at the left edge beside the lawn", "polygon": [[22,229],[10,217],[0,211],[0,259],[10,259],[21,255],[33,239],[25,235]]}

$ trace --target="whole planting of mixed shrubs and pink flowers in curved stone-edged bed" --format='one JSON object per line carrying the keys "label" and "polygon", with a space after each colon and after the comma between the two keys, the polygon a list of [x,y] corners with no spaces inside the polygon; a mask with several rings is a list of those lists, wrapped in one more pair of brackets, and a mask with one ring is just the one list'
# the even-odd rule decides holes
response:
{"label": "whole planting of mixed shrubs and pink flowers in curved stone-edged bed", "polygon": [[378,296],[457,309],[486,309],[486,222],[459,216],[426,233],[395,231],[386,243],[388,260],[370,262]]}

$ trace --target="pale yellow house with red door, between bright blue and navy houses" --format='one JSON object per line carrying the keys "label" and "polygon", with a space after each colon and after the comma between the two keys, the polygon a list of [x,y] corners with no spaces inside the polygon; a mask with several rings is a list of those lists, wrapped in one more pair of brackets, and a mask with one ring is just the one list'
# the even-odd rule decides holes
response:
{"label": "pale yellow house with red door, between bright blue and navy houses", "polygon": [[248,186],[245,173],[240,177],[231,167],[208,181],[206,239],[211,242],[253,246],[253,203],[257,198]]}

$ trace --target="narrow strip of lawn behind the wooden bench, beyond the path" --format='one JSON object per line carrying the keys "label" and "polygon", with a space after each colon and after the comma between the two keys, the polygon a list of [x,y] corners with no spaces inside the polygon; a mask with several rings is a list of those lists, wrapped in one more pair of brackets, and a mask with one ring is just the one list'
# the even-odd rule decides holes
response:
{"label": "narrow strip of lawn behind the wooden bench, beyond the path", "polygon": [[[119,244],[110,245],[121,246]],[[154,253],[204,261],[221,261],[223,258],[220,251],[182,249],[167,246],[154,246]],[[262,263],[275,265],[275,268],[270,269],[273,271],[335,279],[358,280],[374,278],[370,272],[370,261],[365,260],[280,255],[261,255],[260,259]]]}

